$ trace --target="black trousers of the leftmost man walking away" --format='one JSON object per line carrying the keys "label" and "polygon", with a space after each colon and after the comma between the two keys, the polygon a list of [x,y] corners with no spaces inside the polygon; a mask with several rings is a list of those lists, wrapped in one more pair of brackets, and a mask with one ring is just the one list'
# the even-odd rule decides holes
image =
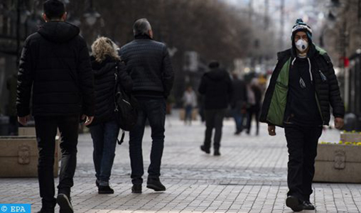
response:
{"label": "black trousers of the leftmost man walking away", "polygon": [[79,116],[36,116],[36,139],[38,141],[38,180],[43,206],[55,202],[53,175],[55,136],[60,131],[61,166],[58,193],[70,196],[70,187],[77,165],[77,135]]}

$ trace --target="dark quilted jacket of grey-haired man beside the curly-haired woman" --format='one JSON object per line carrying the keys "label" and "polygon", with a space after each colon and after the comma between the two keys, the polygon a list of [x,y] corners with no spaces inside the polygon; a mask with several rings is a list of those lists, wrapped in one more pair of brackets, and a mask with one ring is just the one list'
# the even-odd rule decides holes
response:
{"label": "dark quilted jacket of grey-haired man beside the curly-haired woman", "polygon": [[168,97],[174,74],[166,45],[148,35],[136,35],[120,49],[120,55],[133,80],[134,96]]}

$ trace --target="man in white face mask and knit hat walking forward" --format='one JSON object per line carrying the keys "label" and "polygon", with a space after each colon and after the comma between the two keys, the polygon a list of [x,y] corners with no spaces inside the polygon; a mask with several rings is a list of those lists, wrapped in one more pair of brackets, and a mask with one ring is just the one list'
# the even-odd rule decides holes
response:
{"label": "man in white face mask and knit hat walking forward", "polygon": [[343,127],[345,108],[338,80],[325,50],[312,43],[311,27],[297,19],[292,28],[292,47],[277,54],[278,62],[264,97],[260,121],[284,127],[289,151],[286,206],[294,212],[315,209],[310,202],[315,158],[322,126],[330,121]]}

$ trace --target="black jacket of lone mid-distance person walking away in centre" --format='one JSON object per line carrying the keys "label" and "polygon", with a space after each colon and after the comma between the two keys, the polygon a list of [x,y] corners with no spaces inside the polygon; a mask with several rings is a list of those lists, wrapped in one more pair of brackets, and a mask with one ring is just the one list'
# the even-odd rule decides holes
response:
{"label": "black jacket of lone mid-distance person walking away in centre", "polygon": [[206,72],[198,92],[205,96],[205,109],[226,109],[232,97],[230,75],[220,68]]}

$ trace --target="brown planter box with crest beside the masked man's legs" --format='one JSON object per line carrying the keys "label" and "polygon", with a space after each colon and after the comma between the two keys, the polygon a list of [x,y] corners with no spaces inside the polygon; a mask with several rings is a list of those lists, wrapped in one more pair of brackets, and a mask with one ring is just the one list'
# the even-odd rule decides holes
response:
{"label": "brown planter box with crest beside the masked man's legs", "polygon": [[314,182],[361,183],[361,146],[318,143]]}

